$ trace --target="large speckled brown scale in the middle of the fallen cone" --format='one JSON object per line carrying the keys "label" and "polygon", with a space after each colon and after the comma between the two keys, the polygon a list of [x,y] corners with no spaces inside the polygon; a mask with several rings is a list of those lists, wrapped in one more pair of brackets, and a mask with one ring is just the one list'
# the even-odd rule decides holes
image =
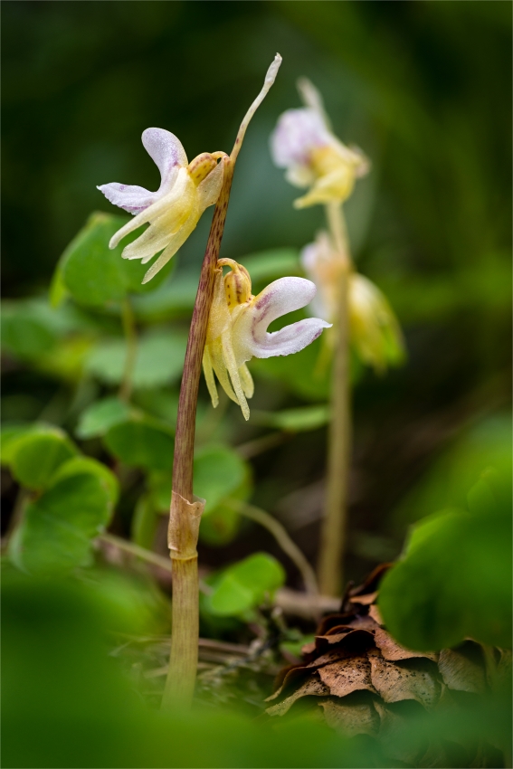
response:
{"label": "large speckled brown scale in the middle of the fallen cone", "polygon": [[432,707],[440,697],[440,683],[427,660],[391,662],[384,660],[381,652],[368,652],[371,664],[371,680],[385,702],[416,699],[424,707]]}

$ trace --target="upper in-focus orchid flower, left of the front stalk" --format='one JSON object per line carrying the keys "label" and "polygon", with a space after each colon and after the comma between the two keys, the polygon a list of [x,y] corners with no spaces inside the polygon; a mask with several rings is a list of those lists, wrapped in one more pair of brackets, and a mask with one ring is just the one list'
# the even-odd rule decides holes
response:
{"label": "upper in-focus orchid flower, left of the front stalk", "polygon": [[217,202],[223,185],[223,164],[217,161],[225,153],[203,152],[189,163],[179,139],[164,128],[147,128],[142,143],[160,171],[157,192],[118,182],[98,189],[110,203],[134,215],[113,235],[109,248],[116,248],[126,235],[149,223],[122,253],[123,259],[140,259],[146,264],[162,252],[144,277],[143,283],[147,283],[185,243],[205,208]]}

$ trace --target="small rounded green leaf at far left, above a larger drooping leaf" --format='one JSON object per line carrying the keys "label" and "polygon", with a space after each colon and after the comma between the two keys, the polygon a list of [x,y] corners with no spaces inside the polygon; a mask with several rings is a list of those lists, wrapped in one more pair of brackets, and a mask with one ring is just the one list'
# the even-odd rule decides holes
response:
{"label": "small rounded green leaf at far left, above a larger drooping leaf", "polygon": [[57,427],[38,425],[24,432],[8,447],[14,478],[29,489],[44,489],[62,462],[77,449]]}

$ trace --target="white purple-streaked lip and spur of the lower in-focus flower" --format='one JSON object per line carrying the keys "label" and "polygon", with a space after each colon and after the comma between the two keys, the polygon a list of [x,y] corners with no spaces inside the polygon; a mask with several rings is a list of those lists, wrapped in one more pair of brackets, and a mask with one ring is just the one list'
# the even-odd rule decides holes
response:
{"label": "white purple-streaked lip and spur of the lower in-focus flower", "polygon": [[287,356],[313,342],[330,324],[307,318],[269,334],[270,323],[288,312],[305,307],[316,287],[304,278],[274,280],[252,299],[233,324],[234,348],[239,366],[255,357]]}

